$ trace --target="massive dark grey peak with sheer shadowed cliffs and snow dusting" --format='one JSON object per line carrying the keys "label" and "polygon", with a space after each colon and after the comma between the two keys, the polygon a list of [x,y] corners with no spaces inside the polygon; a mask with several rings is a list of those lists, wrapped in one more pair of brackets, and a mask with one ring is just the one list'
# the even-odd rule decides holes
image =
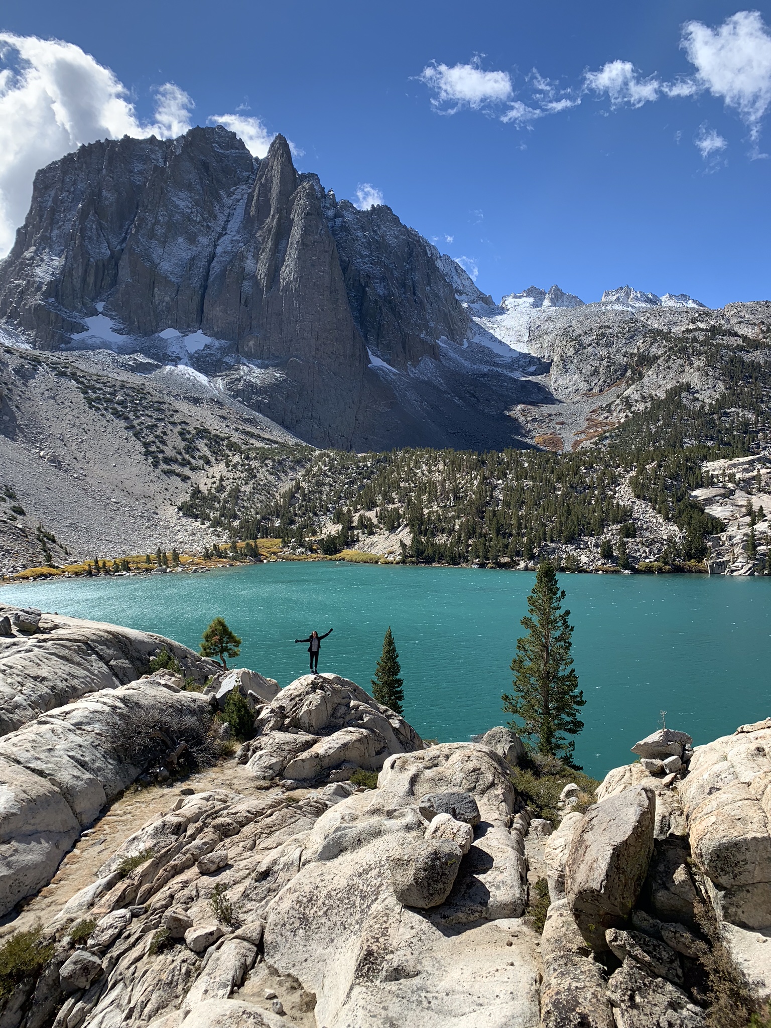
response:
{"label": "massive dark grey peak with sheer shadowed cliffs and snow dusting", "polygon": [[122,351],[200,331],[215,344],[185,363],[320,446],[516,445],[506,409],[548,399],[462,350],[469,317],[417,232],[387,207],[338,204],[281,136],[262,160],[193,128],[40,171],[0,264],[0,320],[54,350],[86,344],[98,314]]}

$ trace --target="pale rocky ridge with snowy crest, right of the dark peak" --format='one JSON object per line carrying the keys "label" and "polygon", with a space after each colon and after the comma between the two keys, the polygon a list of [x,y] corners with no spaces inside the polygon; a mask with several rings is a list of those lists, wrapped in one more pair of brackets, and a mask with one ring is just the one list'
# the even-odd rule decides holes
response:
{"label": "pale rocky ridge with snowy crest, right of the dark peak", "polygon": [[[768,301],[720,310],[616,302],[565,308],[514,295],[500,305],[467,306],[477,340],[514,353],[526,376],[548,389],[551,402],[520,404],[511,412],[524,438],[552,437],[557,449],[585,445],[673,389],[707,408],[733,384],[728,368],[734,354],[762,377],[771,358]],[[771,411],[765,381],[761,402],[765,426]]]}

